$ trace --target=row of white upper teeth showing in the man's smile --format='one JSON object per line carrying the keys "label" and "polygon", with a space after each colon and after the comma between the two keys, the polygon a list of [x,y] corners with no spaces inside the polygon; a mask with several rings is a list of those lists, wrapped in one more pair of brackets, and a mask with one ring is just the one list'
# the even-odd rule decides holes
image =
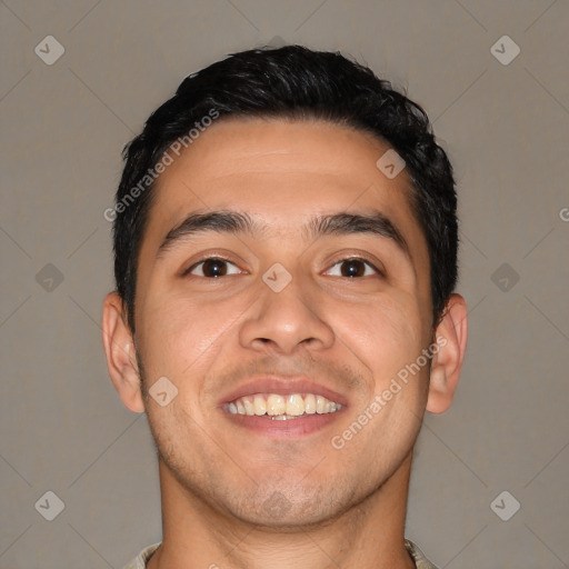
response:
{"label": "row of white upper teeth showing in the man's smile", "polygon": [[249,416],[287,415],[290,417],[298,417],[303,413],[332,413],[339,411],[341,407],[340,403],[313,393],[291,393],[289,396],[257,393],[254,396],[240,397],[227,406],[231,413]]}

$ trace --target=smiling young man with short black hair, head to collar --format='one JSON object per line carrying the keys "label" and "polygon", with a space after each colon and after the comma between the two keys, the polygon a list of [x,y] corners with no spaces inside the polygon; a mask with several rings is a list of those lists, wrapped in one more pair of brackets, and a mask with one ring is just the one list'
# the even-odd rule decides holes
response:
{"label": "smiling young man with short black hair, head to collar", "polygon": [[146,412],[163,537],[128,567],[430,568],[403,537],[467,341],[451,166],[338,53],[233,54],[126,149],[109,373]]}

